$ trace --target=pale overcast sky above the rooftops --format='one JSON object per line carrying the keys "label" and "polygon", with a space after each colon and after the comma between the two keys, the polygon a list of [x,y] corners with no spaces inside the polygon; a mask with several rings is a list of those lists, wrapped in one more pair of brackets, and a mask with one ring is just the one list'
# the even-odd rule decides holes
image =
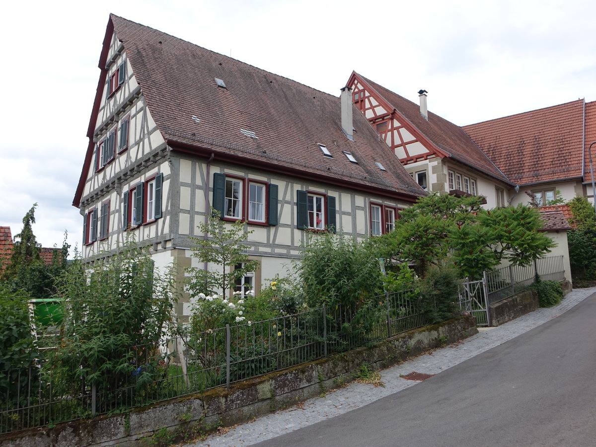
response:
{"label": "pale overcast sky above the rooftops", "polygon": [[582,0],[103,0],[8,2],[0,93],[0,225],[38,203],[45,247],[64,230],[87,147],[108,14],[339,95],[352,70],[467,125],[596,100],[596,4]]}

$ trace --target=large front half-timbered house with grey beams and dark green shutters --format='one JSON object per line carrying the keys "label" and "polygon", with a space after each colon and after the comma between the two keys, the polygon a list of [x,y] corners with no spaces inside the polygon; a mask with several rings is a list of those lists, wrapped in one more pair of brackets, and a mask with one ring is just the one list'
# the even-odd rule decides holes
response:
{"label": "large front half-timbered house with grey beams and dark green shutters", "polygon": [[134,239],[157,268],[214,268],[191,257],[190,237],[215,207],[253,230],[260,268],[238,290],[259,293],[309,231],[383,234],[425,194],[349,88],[334,97],[116,15],[99,67],[73,201],[87,260]]}

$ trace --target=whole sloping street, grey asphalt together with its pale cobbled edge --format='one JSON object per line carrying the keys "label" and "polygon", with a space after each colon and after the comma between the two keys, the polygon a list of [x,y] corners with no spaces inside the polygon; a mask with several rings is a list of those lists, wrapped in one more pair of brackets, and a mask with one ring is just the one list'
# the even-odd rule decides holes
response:
{"label": "whole sloping street, grey asphalt together with its pale cobbled edge", "polygon": [[[594,445],[594,292],[388,368],[385,388],[353,383],[193,445]],[[437,375],[399,377],[412,371]]]}

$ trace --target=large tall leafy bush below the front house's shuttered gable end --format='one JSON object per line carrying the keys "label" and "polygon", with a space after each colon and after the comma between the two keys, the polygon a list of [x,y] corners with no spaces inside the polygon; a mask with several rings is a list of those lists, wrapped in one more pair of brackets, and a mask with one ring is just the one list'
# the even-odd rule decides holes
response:
{"label": "large tall leafy bush below the front house's shuttered gable end", "polygon": [[[172,271],[154,271],[148,251],[135,244],[119,248],[87,271],[75,260],[58,280],[64,321],[49,367],[79,392],[91,384],[111,390],[134,385],[129,393],[138,395],[160,373],[158,346],[176,302]],[[116,394],[102,393],[100,405],[115,406]]]}

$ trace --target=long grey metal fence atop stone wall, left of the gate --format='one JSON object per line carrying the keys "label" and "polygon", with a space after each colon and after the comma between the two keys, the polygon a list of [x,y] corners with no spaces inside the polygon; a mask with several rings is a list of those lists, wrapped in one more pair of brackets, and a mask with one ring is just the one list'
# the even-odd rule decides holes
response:
{"label": "long grey metal fence atop stone wall, left of the gate", "polygon": [[[417,290],[131,347],[92,376],[57,353],[0,373],[0,434],[105,414],[272,373],[428,323]],[[107,356],[110,353],[106,354]]]}

